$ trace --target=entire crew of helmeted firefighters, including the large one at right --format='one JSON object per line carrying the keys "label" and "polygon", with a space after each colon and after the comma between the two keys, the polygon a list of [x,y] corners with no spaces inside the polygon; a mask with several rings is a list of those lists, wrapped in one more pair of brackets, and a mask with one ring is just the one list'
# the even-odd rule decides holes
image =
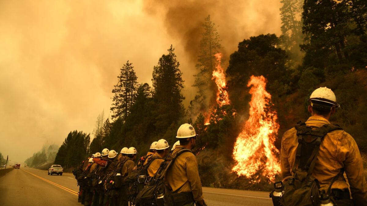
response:
{"label": "entire crew of helmeted firefighters, including the large one at right", "polygon": [[[330,124],[339,107],[331,89],[320,87],[309,98],[311,117],[284,133],[282,181],[270,193],[275,206],[367,206],[367,182],[358,146],[351,135]],[[137,151],[103,149],[73,171],[84,205],[207,205],[196,157],[196,132],[190,124],[177,131],[172,150],[166,140],[152,143],[135,166]],[[344,173],[348,179],[346,181]],[[244,204],[246,205],[246,204]]]}

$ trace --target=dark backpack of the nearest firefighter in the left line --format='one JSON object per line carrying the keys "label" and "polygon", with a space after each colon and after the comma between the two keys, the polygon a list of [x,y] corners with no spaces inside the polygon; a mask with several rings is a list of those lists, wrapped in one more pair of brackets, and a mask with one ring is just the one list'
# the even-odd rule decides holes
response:
{"label": "dark backpack of the nearest firefighter in the left line", "polygon": [[168,157],[164,159],[154,177],[137,195],[136,202],[138,204],[175,206],[194,202],[192,192],[172,192],[164,182],[167,170],[172,163],[174,163],[175,159],[184,152],[192,151],[186,148],[179,148],[177,152],[169,154]]}

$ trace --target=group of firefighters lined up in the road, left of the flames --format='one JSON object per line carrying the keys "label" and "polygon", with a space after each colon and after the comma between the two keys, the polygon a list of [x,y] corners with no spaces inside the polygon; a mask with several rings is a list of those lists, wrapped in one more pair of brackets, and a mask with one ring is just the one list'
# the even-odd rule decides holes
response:
{"label": "group of firefighters lined up in the road, left of the flames", "polygon": [[195,129],[183,124],[176,137],[171,150],[164,139],[153,142],[137,165],[134,147],[122,148],[119,155],[107,148],[93,154],[73,170],[80,186],[78,201],[92,206],[206,205],[191,152]]}

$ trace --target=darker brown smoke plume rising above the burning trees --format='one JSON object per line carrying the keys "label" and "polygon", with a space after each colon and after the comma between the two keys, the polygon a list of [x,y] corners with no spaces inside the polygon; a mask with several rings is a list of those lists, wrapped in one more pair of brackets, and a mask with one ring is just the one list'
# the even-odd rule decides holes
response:
{"label": "darker brown smoke plume rising above the burning trees", "polygon": [[224,58],[239,41],[262,33],[280,34],[280,1],[274,0],[148,0],[145,11],[163,19],[167,33],[181,41],[186,55],[196,63],[204,18],[218,27]]}

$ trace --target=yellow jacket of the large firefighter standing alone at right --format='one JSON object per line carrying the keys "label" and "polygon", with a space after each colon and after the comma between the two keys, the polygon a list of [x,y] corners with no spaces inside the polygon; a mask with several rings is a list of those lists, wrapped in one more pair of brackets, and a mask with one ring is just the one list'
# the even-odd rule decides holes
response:
{"label": "yellow jacket of the large firefighter standing alone at right", "polygon": [[[318,116],[310,117],[307,126],[321,127],[330,122]],[[292,128],[284,133],[281,140],[280,162],[281,174],[284,177],[292,175],[292,167],[297,151],[297,130]],[[340,169],[345,169],[350,185],[353,201],[356,205],[367,205],[367,183],[364,177],[362,158],[358,146],[344,130],[329,132],[321,142],[312,176],[319,180],[320,190],[327,191],[331,180],[337,176]],[[339,177],[332,188],[344,190],[348,188],[344,177]]]}

